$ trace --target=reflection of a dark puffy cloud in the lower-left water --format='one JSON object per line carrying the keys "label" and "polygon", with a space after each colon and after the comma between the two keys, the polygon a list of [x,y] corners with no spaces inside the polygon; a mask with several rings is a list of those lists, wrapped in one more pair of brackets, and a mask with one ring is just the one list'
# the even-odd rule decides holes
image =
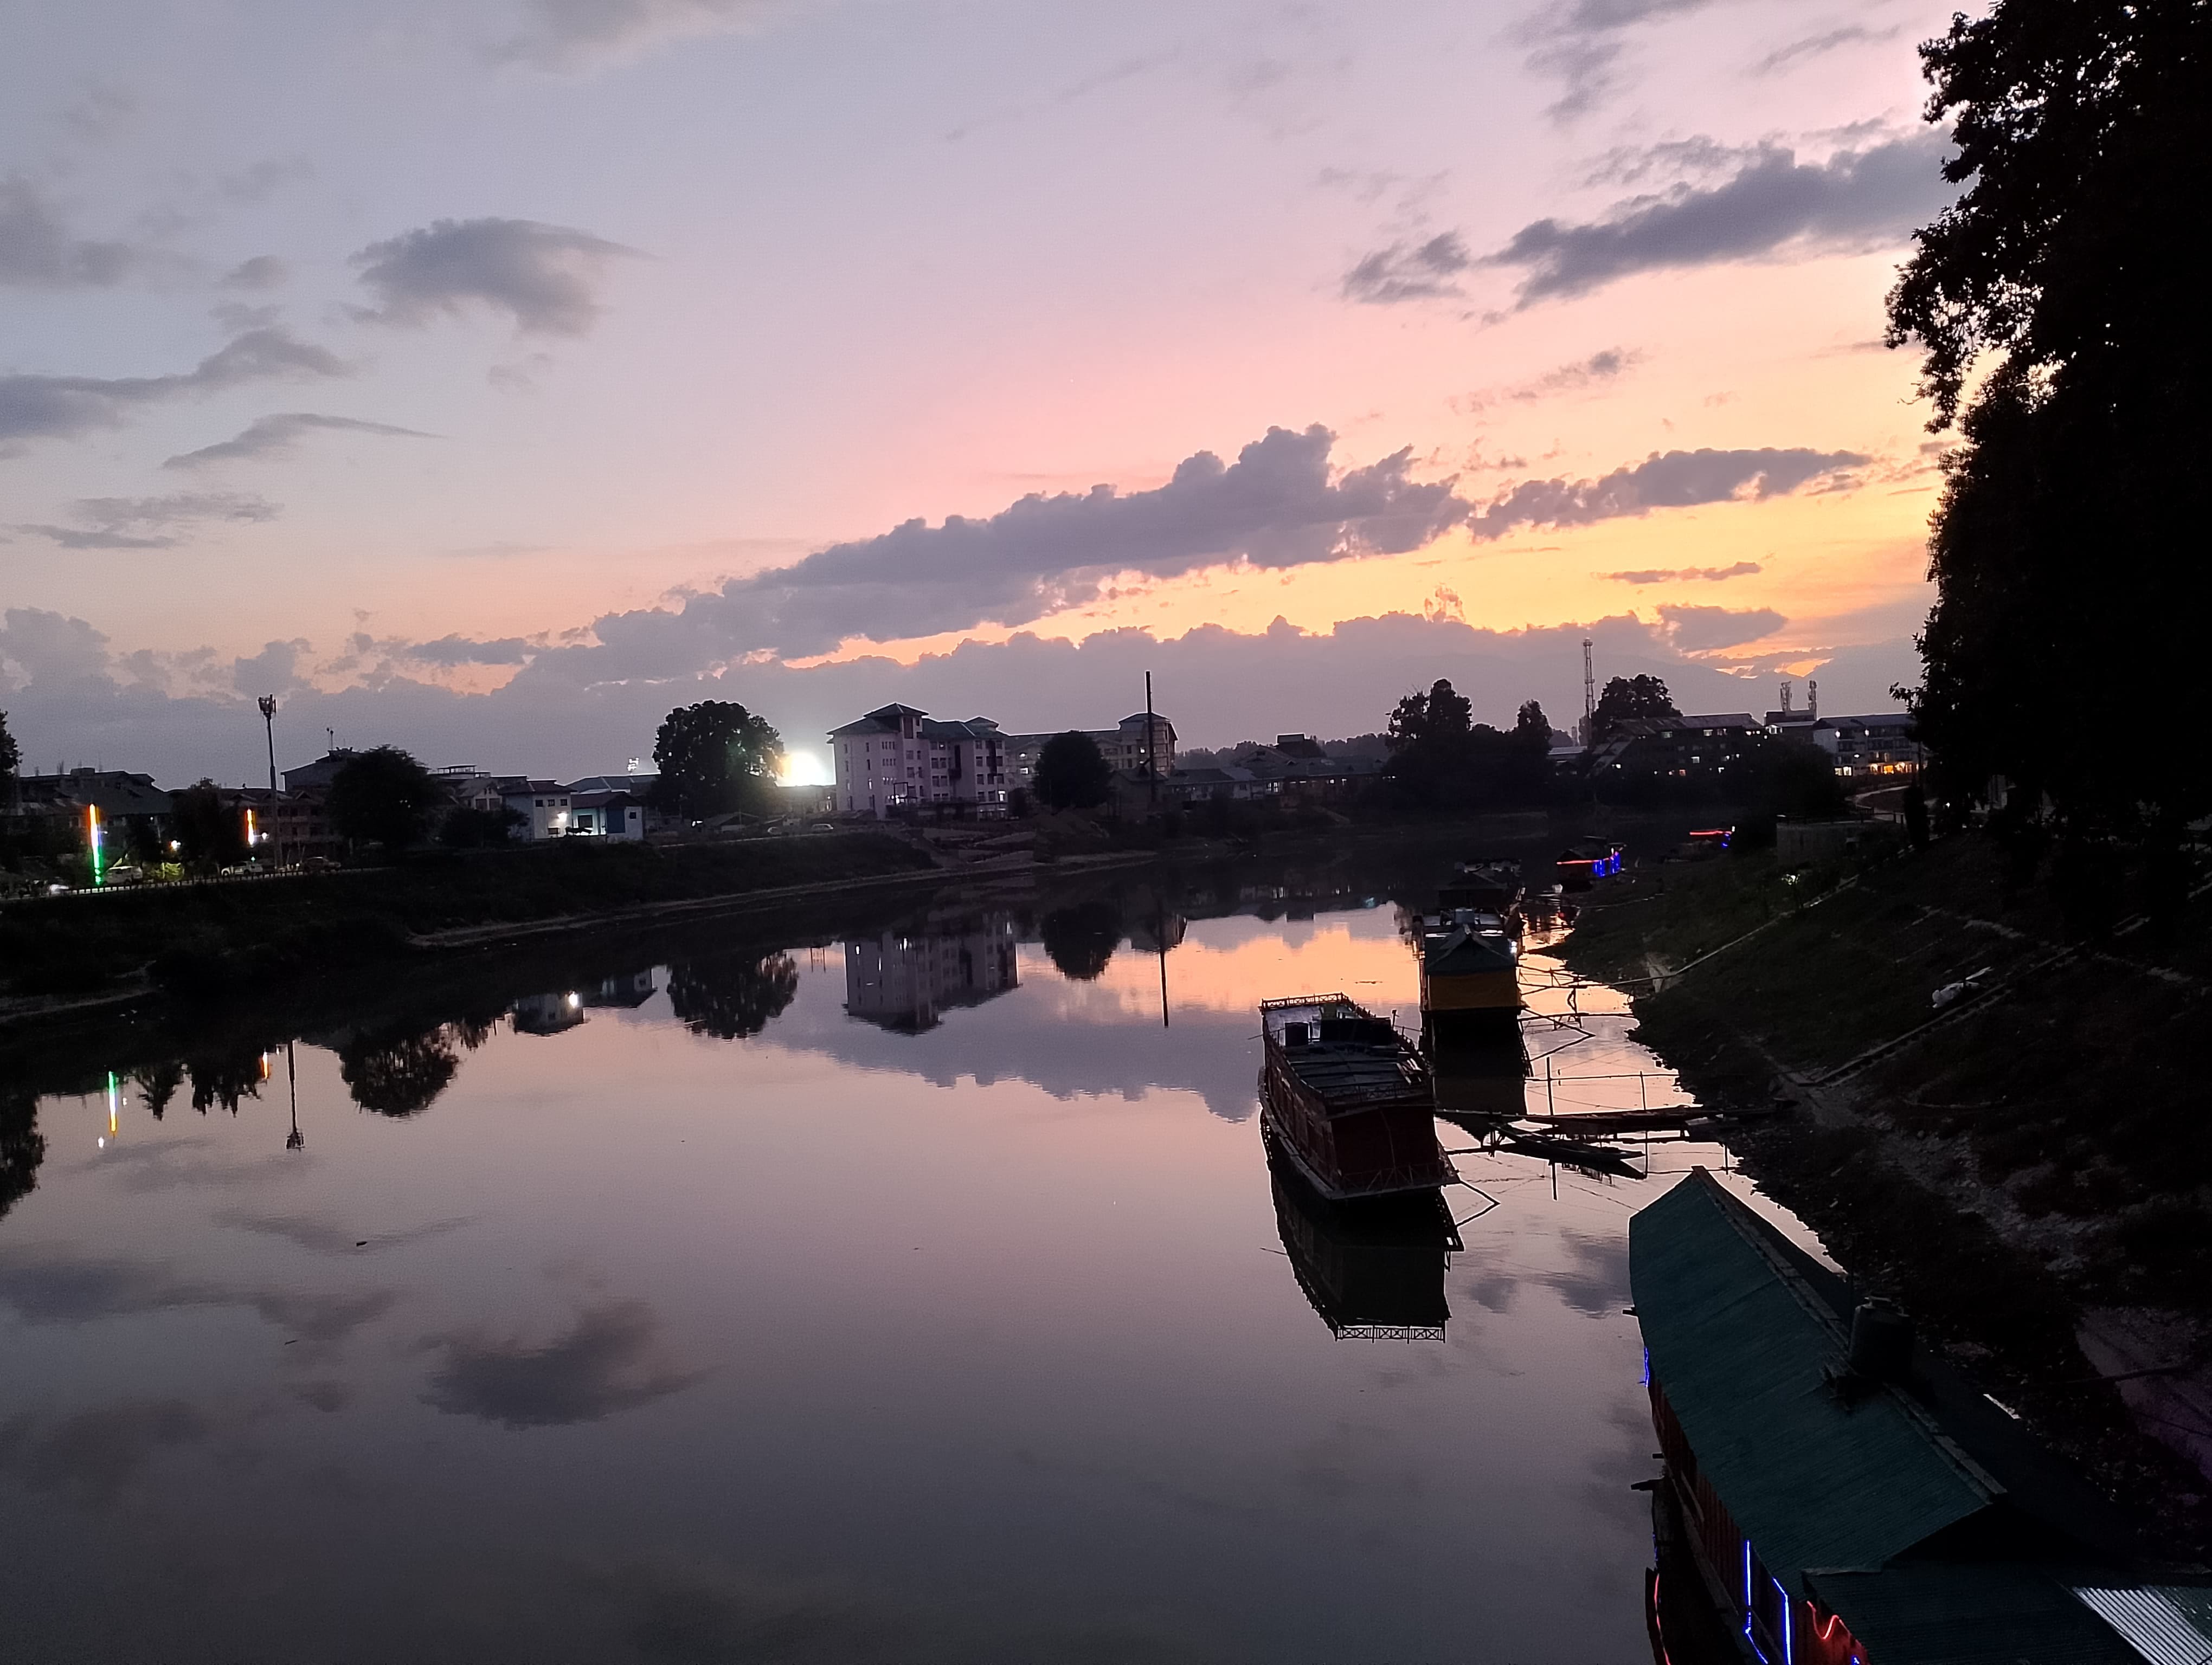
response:
{"label": "reflection of a dark puffy cloud in the lower-left water", "polygon": [[699,1371],[684,1371],[666,1355],[659,1329],[646,1302],[604,1300],[584,1307],[575,1324],[542,1347],[449,1336],[436,1342],[445,1364],[422,1400],[509,1428],[599,1422],[699,1380]]}

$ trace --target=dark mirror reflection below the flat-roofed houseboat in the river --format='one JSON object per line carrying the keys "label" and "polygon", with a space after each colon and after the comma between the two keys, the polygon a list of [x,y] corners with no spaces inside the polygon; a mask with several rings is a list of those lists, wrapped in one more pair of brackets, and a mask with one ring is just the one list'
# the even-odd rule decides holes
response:
{"label": "dark mirror reflection below the flat-roofed houseboat in the river", "polygon": [[1290,1254],[1298,1289],[1329,1333],[1365,1340],[1444,1340],[1451,1307],[1444,1271],[1460,1232],[1436,1190],[1329,1203],[1281,1141],[1261,1123],[1267,1176],[1274,1187],[1274,1227]]}

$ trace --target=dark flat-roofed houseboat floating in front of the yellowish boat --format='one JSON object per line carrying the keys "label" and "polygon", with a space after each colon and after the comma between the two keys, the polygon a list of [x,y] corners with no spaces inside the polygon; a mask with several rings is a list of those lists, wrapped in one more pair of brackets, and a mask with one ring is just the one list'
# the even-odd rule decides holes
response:
{"label": "dark flat-roofed houseboat floating in front of the yellowish boat", "polygon": [[1345,995],[1263,999],[1261,1117],[1283,1156],[1332,1201],[1458,1179],[1436,1141],[1420,1053]]}

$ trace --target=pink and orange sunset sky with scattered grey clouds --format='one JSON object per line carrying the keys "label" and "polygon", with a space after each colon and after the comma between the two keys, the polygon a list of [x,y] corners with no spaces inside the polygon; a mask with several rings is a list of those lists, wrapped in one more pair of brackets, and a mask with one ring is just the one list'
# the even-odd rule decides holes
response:
{"label": "pink and orange sunset sky with scattered grey clouds", "polygon": [[[1920,0],[0,0],[0,708],[575,778],[1893,708]],[[1803,688],[1798,703],[1803,703]]]}

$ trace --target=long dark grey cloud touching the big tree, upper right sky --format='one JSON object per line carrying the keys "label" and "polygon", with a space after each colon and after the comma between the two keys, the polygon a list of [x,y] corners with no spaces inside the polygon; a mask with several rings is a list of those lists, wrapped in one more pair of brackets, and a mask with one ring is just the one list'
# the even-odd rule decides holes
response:
{"label": "long dark grey cloud touching the big tree, upper right sky", "polygon": [[1951,195],[1940,175],[1944,139],[1913,133],[1865,150],[1801,164],[1765,144],[1712,186],[1630,197],[1604,219],[1537,219],[1486,256],[1526,272],[1520,305],[1588,294],[1615,279],[1785,250],[1829,252],[1902,241]]}

